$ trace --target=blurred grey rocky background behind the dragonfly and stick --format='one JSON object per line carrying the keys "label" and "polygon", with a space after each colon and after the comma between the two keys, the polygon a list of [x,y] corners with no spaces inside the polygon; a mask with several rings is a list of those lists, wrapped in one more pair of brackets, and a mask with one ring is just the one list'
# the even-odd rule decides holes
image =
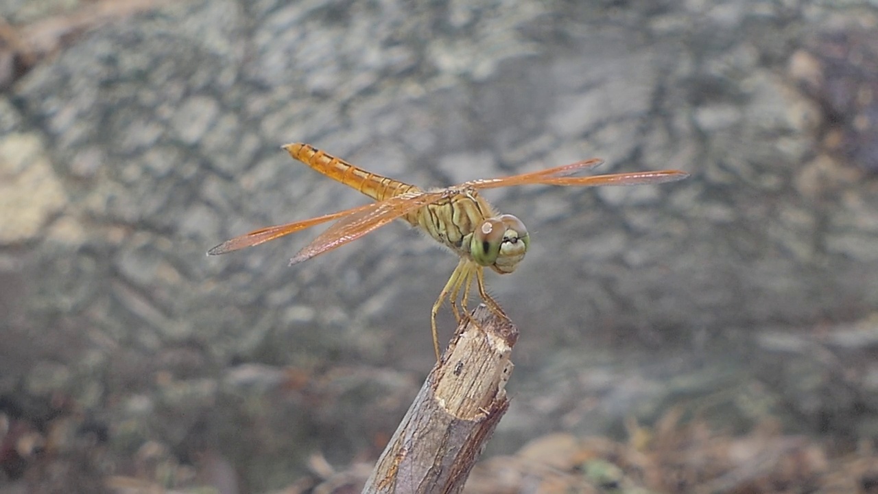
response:
{"label": "blurred grey rocky background behind the dragonfly and stick", "polygon": [[0,88],[2,493],[361,481],[456,259],[402,224],[206,258],[364,203],[287,142],[692,174],[486,193],[533,240],[488,278],[522,336],[471,491],[878,485],[874,1],[3,0]]}

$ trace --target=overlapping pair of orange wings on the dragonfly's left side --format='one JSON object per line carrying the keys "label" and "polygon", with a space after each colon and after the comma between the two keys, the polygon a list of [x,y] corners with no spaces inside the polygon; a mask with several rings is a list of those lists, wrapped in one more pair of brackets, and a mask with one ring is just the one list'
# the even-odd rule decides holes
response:
{"label": "overlapping pair of orange wings on the dragonfly's left side", "polygon": [[352,207],[333,214],[326,214],[303,220],[301,222],[286,223],[274,227],[257,229],[242,236],[236,236],[231,240],[220,243],[207,251],[208,256],[216,256],[227,252],[238,251],[245,247],[259,245],[281,236],[290,235],[302,229],[307,229],[320,223],[339,220],[326,231],[321,233],[311,243],[308,243],[299,253],[290,260],[290,264],[299,264],[302,261],[320,255],[323,252],[332,251],[345,243],[350,243],[389,222],[411,213],[419,207],[428,206],[444,197],[443,191],[435,193],[407,193],[392,197],[380,202],[372,202],[365,206]]}

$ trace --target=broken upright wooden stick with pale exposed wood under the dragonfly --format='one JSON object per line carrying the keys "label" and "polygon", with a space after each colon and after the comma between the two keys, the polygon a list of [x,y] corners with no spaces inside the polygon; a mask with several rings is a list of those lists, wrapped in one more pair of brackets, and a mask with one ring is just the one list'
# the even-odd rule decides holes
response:
{"label": "broken upright wooden stick with pale exposed wood under the dragonfly", "polygon": [[[475,322],[475,323],[473,323]],[[518,330],[484,305],[472,311],[427,376],[363,494],[460,492],[509,400]]]}

